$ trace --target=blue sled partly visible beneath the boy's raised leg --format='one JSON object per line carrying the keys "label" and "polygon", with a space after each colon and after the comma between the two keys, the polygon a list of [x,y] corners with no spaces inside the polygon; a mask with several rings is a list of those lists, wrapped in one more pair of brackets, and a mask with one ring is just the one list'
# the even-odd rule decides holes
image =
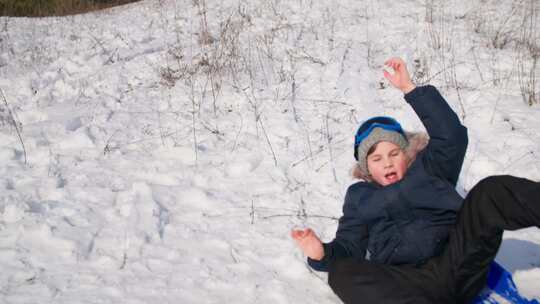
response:
{"label": "blue sled partly visible beneath the boy's raised leg", "polygon": [[512,274],[501,265],[492,262],[487,286],[472,304],[500,304],[497,299],[504,299],[512,304],[540,304],[537,300],[527,300],[522,297],[512,280]]}

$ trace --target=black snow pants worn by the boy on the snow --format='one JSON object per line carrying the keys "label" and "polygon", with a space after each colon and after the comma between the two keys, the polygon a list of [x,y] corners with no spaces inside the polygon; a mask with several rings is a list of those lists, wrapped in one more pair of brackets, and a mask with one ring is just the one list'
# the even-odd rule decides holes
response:
{"label": "black snow pants worn by the boy on the snow", "polygon": [[332,290],[350,303],[469,303],[486,285],[504,230],[540,226],[540,183],[491,176],[471,189],[440,256],[421,266],[338,259]]}

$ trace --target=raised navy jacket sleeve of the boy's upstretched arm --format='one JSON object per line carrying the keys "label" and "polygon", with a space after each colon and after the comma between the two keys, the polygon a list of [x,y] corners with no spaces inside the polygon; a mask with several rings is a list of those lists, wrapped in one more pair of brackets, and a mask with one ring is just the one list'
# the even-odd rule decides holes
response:
{"label": "raised navy jacket sleeve of the boy's upstretched arm", "polygon": [[467,128],[434,86],[417,87],[405,100],[430,137],[423,157],[426,169],[455,186],[467,151]]}

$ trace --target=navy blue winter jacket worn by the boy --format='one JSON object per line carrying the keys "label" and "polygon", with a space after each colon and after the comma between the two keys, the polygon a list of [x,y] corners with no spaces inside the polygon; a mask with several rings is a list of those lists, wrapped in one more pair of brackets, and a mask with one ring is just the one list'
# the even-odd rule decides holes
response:
{"label": "navy blue winter jacket worn by the boy", "polygon": [[324,258],[309,265],[328,271],[333,259],[366,258],[384,264],[421,265],[441,253],[463,198],[455,186],[467,149],[467,129],[433,86],[405,95],[430,136],[397,183],[351,185],[335,239],[323,244]]}

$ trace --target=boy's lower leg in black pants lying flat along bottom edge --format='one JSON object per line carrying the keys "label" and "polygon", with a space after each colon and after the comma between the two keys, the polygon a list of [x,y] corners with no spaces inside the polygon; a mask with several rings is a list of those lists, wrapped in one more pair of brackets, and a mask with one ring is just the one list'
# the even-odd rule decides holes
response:
{"label": "boy's lower leg in black pants lying flat along bottom edge", "polygon": [[444,303],[432,272],[412,265],[340,259],[331,264],[328,283],[346,304]]}

